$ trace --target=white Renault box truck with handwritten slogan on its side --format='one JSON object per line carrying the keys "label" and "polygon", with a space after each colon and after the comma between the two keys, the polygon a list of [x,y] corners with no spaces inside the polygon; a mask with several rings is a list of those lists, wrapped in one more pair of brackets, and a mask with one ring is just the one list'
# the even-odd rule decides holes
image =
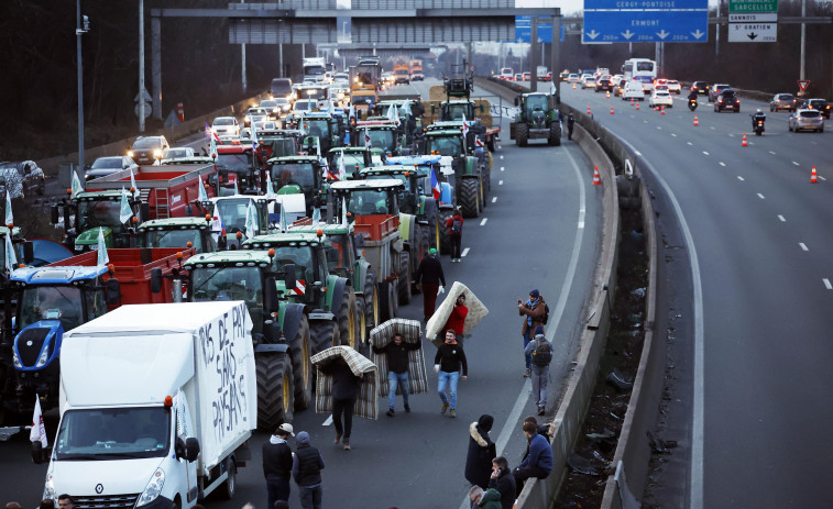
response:
{"label": "white Renault box truck with handwritten slogan on its side", "polygon": [[251,330],[244,302],[216,301],[122,306],[65,333],[43,498],[143,509],[187,509],[217,488],[231,498],[257,423]]}

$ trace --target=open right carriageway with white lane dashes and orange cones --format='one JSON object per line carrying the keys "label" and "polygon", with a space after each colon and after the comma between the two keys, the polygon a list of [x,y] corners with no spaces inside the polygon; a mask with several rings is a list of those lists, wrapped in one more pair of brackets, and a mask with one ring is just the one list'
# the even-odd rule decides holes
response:
{"label": "open right carriageway with white lane dashes and orange cones", "polygon": [[[833,487],[814,473],[833,456],[821,439],[833,419],[833,135],[790,133],[788,113],[747,99],[739,114],[701,100],[695,128],[684,95],[665,115],[590,90],[562,87],[562,97],[589,106],[650,164],[651,190],[667,193],[660,217],[680,214],[665,254],[693,261],[666,281],[690,296],[670,312],[691,325],[658,324],[680,348],[675,361],[692,362],[670,366],[672,377],[691,376],[677,381],[684,400],[669,403],[688,413],[668,418],[662,436],[679,451],[655,479],[661,507],[824,506]],[[755,108],[767,113],[763,136],[749,133]],[[675,279],[687,277],[692,287],[680,289]]]}

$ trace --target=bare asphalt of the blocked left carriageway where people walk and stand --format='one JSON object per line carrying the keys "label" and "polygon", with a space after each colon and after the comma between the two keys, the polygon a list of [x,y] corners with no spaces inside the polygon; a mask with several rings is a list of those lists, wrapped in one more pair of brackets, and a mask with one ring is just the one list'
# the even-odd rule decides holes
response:
{"label": "bare asphalt of the blocked left carriageway where people walk and stand", "polygon": [[[427,97],[427,87],[416,84]],[[558,396],[583,327],[582,309],[596,265],[601,189],[591,185],[589,162],[578,146],[565,140],[561,147],[544,144],[520,150],[508,141],[504,122],[502,147],[494,153],[489,206],[463,226],[463,258],[449,263],[443,256],[447,283],[464,283],[486,305],[490,314],[467,339],[469,379],[460,381],[458,417],[440,416],[436,392],[412,397],[412,413],[379,421],[354,420],[352,451],[332,445],[335,431],[325,425],[328,416],[313,411],[295,416],[295,430],[306,430],[321,449],[324,507],[457,508],[468,484],[463,478],[468,428],[482,413],[495,418],[493,439],[498,452],[516,464],[525,447],[519,422],[535,413],[528,400],[529,383],[523,378],[520,319],[516,297],[540,289],[551,314],[547,334],[555,339],[557,361],[551,366],[550,399]],[[405,318],[421,318],[421,297],[401,308]],[[432,361],[435,347],[425,343]],[[434,386],[436,375],[428,369]],[[385,402],[382,402],[384,406]],[[552,408],[550,408],[550,417]],[[55,423],[52,422],[54,430]],[[239,508],[251,501],[265,506],[260,449],[267,435],[250,442],[253,461],[238,476],[232,501],[213,500],[208,509]],[[18,439],[0,443],[0,500],[17,499],[24,507],[40,500],[45,465],[29,460],[28,443]],[[292,507],[298,507],[294,487]]]}

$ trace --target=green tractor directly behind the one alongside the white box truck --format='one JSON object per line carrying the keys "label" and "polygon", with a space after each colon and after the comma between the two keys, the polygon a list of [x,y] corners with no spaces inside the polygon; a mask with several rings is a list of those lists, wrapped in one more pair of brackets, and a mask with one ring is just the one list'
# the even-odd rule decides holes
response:
{"label": "green tractor directly behind the one alongside the white box truck", "polygon": [[282,288],[291,302],[304,306],[313,338],[313,355],[340,344],[357,347],[359,311],[352,281],[331,274],[329,243],[321,233],[288,231],[260,235],[243,243],[243,248],[274,250],[283,266],[295,266],[295,286]]}

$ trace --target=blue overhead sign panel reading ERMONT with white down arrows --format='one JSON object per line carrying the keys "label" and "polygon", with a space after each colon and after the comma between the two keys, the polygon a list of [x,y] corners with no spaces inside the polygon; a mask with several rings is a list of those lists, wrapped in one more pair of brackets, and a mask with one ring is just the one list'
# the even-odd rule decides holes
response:
{"label": "blue overhead sign panel reading ERMONT with white down arrows", "polygon": [[709,40],[709,12],[705,1],[700,4],[702,9],[689,11],[584,9],[582,43],[703,43]]}

